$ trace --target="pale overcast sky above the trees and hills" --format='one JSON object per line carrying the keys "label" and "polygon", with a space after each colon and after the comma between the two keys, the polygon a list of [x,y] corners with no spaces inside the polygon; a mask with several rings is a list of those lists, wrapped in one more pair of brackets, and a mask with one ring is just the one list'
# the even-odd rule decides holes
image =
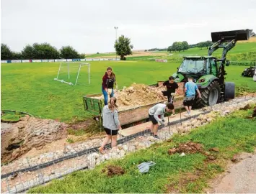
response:
{"label": "pale overcast sky above the trees and hills", "polygon": [[14,51],[49,42],[79,52],[114,51],[115,29],[134,50],[211,40],[211,32],[256,31],[256,0],[1,0],[1,43]]}

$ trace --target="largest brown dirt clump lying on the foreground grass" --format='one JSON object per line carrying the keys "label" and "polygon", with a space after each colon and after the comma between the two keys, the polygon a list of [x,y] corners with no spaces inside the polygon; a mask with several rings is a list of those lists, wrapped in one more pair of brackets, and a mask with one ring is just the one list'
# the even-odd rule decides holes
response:
{"label": "largest brown dirt clump lying on the foreground grass", "polygon": [[203,145],[194,143],[194,142],[187,142],[181,143],[178,147],[174,147],[168,150],[168,154],[175,154],[175,153],[187,153],[187,154],[195,154],[198,152],[203,152]]}

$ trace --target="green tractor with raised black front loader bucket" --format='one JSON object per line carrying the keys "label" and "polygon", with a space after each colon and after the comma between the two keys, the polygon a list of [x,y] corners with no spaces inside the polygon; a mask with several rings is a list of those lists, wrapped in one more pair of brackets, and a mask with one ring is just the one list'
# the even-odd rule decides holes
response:
{"label": "green tractor with raised black front loader bucket", "polygon": [[[212,32],[213,45],[208,49],[205,57],[184,57],[184,60],[175,77],[176,82],[187,82],[188,77],[193,77],[198,85],[202,98],[195,98],[195,106],[213,106],[216,103],[234,98],[235,84],[225,82],[225,65],[229,66],[226,54],[239,40],[248,40],[252,29],[241,29],[226,32]],[[223,48],[221,59],[213,57],[215,50]]]}

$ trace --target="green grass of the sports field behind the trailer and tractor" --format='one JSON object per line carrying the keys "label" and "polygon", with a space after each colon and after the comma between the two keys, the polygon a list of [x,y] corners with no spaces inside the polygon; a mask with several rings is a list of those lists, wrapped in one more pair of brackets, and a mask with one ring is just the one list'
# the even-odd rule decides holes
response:
{"label": "green grass of the sports field behind the trailer and tractor", "polygon": [[[132,83],[151,84],[165,80],[175,73],[180,63],[154,61],[92,61],[91,85],[88,85],[87,68],[81,69],[77,86],[54,81],[59,63],[1,64],[1,109],[26,111],[43,119],[78,121],[89,114],[84,111],[82,96],[101,93],[102,75],[112,66],[119,88]],[[76,78],[78,65],[71,67],[71,79]],[[234,81],[237,92],[256,92],[252,78],[241,76],[244,66],[229,66],[226,80]],[[67,78],[67,72],[60,78]]]}

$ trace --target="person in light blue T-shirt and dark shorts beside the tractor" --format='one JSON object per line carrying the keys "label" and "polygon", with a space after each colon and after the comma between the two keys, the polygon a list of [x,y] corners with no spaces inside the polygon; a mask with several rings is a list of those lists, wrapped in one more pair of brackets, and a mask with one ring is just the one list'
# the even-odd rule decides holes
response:
{"label": "person in light blue T-shirt and dark shorts beside the tractor", "polygon": [[185,98],[183,101],[183,105],[187,113],[184,116],[190,116],[190,111],[192,109],[193,101],[195,100],[195,91],[198,92],[199,98],[201,98],[200,91],[198,90],[198,86],[193,82],[193,78],[189,77],[188,82],[185,83]]}

